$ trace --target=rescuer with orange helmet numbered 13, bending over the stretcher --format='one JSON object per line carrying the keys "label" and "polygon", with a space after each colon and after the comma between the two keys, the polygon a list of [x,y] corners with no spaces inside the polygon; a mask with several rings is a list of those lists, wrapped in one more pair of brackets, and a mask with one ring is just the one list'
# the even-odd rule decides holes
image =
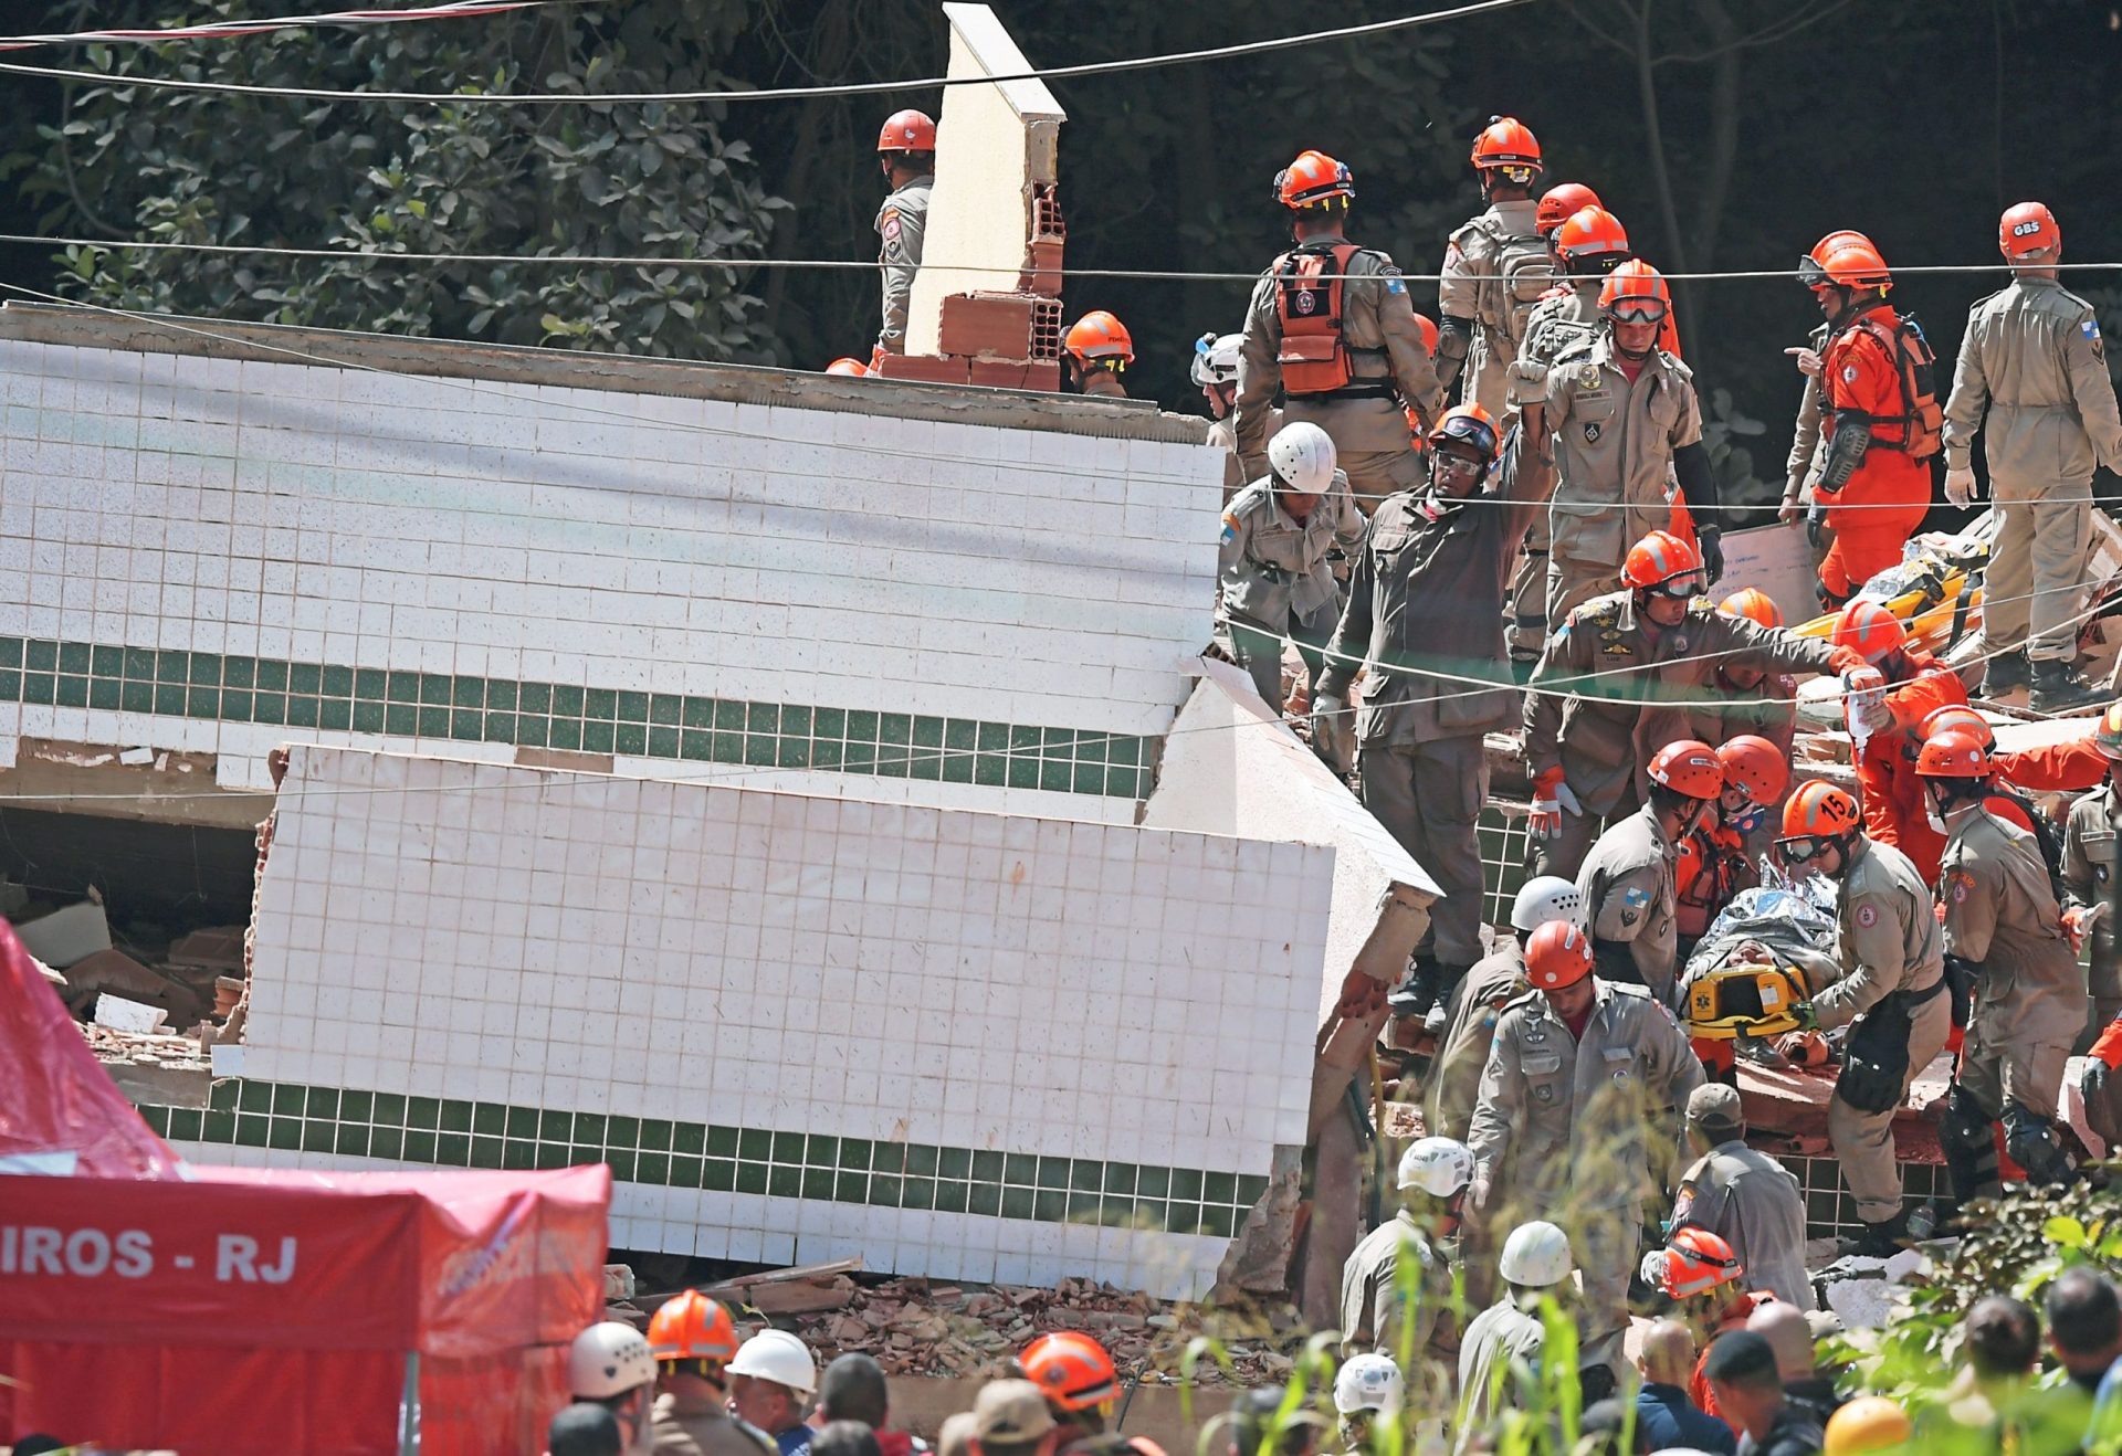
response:
{"label": "rescuer with orange helmet numbered 13, bending over the stretcher", "polygon": [[1908,1225],[1893,1114],[1952,1032],[1931,889],[1908,855],[1865,838],[1857,800],[1825,779],[1808,779],[1782,804],[1776,853],[1793,877],[1836,881],[1846,974],[1795,1010],[1806,1027],[1855,1023],[1827,1099],[1827,1142],[1865,1227],[1855,1250],[1884,1256]]}

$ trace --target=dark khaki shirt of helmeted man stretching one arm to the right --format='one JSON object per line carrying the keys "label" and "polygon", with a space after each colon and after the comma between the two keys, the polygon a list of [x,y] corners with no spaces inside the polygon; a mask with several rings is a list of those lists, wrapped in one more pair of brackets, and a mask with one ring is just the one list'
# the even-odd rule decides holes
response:
{"label": "dark khaki shirt of helmeted man stretching one arm to the right", "polygon": [[1526,694],[1526,768],[1541,775],[1562,764],[1585,813],[1613,813],[1630,783],[1647,790],[1642,766],[1657,749],[1676,739],[1721,741],[1732,709],[1719,703],[1715,673],[1729,652],[1751,652],[1772,673],[1825,673],[1838,662],[1819,639],[1719,616],[1706,599],[1679,626],[1655,628],[1636,616],[1632,592],[1594,596],[1570,611],[1532,669],[1534,688],[1568,696]]}

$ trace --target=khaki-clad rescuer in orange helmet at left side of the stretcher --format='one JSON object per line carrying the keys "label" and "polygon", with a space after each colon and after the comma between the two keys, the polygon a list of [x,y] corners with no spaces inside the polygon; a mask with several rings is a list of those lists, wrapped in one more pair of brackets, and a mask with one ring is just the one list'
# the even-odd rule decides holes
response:
{"label": "khaki-clad rescuer in orange helmet at left side of the stretcher", "polygon": [[1723,766],[1708,743],[1681,739],[1657,749],[1647,777],[1642,809],[1598,836],[1577,870],[1577,889],[1585,898],[1600,978],[1649,987],[1670,1006],[1679,972],[1676,847],[1715,813]]}

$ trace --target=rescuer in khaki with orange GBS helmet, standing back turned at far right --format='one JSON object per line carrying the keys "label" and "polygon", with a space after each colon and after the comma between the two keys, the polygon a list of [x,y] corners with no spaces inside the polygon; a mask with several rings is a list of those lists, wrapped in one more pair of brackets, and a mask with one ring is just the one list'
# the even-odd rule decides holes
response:
{"label": "rescuer in khaki with orange GBS helmet, standing back turned at far right", "polygon": [[[2122,471],[2122,412],[2092,304],[2056,282],[2063,229],[2039,202],[1997,221],[2012,287],[1967,314],[1946,401],[1946,499],[1971,505],[1982,429],[1997,537],[1982,577],[1990,696],[2033,681],[2035,713],[2103,692],[2077,673],[2080,605],[2092,552],[2092,467]],[[2031,658],[2031,664],[2029,664]]]}

